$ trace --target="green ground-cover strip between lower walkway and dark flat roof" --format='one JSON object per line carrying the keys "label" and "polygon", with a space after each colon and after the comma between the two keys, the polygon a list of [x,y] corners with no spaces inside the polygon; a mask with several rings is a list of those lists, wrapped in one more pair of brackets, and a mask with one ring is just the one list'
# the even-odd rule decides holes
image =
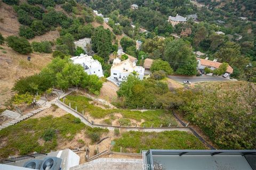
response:
{"label": "green ground-cover strip between lower walkway and dark flat roof", "polygon": [[114,140],[113,151],[140,152],[148,149],[207,149],[193,134],[181,131],[125,132]]}

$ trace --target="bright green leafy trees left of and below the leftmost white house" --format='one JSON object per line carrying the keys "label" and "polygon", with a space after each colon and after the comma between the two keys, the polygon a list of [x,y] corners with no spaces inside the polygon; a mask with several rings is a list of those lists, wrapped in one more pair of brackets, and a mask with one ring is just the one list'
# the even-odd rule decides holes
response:
{"label": "bright green leafy trees left of and below the leftmost white house", "polygon": [[87,89],[98,95],[102,87],[102,81],[97,75],[88,75],[81,65],[73,64],[68,57],[54,58],[39,74],[21,78],[16,81],[13,91],[19,95],[42,94],[52,87],[67,90],[68,87],[76,86]]}

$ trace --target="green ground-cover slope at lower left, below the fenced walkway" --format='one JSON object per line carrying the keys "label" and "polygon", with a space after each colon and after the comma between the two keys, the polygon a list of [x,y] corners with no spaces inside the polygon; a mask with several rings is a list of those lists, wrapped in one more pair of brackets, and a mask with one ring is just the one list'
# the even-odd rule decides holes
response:
{"label": "green ground-cover slope at lower left, below the fenced walkway", "polygon": [[58,146],[58,140],[71,141],[81,130],[86,130],[92,142],[108,132],[106,129],[90,128],[71,114],[29,118],[0,131],[0,159],[33,151],[50,152]]}

